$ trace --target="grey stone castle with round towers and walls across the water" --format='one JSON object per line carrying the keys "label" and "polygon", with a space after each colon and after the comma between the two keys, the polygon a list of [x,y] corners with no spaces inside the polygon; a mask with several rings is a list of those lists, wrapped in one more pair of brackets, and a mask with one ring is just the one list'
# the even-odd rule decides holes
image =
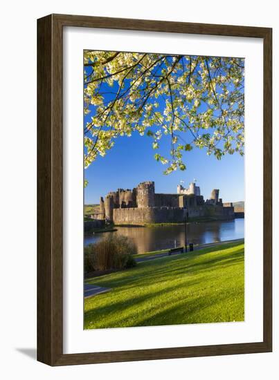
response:
{"label": "grey stone castle with round towers and walls across the water", "polygon": [[210,217],[216,220],[234,218],[231,204],[223,205],[219,189],[213,189],[204,200],[194,182],[188,189],[181,184],[177,193],[155,193],[152,181],[141,182],[134,189],[118,189],[100,198],[100,212],[92,218],[116,225],[146,225],[150,223],[184,222],[188,218]]}

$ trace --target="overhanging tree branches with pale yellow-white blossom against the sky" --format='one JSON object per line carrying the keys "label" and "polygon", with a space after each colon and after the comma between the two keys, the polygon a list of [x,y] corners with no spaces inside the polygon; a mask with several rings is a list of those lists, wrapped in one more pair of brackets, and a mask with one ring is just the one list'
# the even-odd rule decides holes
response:
{"label": "overhanging tree branches with pale yellow-white blossom against the sky", "polygon": [[136,131],[152,137],[165,174],[185,170],[194,147],[218,160],[243,155],[244,59],[85,51],[84,114],[85,168]]}

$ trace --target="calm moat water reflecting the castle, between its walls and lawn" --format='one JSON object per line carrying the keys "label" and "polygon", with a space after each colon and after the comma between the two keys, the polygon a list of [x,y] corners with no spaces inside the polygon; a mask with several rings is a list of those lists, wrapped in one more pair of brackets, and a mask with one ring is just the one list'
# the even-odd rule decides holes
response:
{"label": "calm moat water reflecting the castle, between its walls and lawn", "polygon": [[[116,227],[117,231],[108,234],[120,234],[132,238],[138,247],[138,253],[157,251],[184,245],[184,225],[158,227]],[[95,243],[104,234],[85,236],[84,245]],[[244,238],[244,218],[228,221],[191,223],[187,225],[188,243],[206,244],[224,240]]]}

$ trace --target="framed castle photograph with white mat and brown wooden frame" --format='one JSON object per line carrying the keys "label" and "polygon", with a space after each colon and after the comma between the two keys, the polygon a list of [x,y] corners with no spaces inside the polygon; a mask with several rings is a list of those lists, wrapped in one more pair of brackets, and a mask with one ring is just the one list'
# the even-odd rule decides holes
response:
{"label": "framed castle photograph with white mat and brown wooden frame", "polygon": [[270,352],[271,29],[37,32],[37,359]]}

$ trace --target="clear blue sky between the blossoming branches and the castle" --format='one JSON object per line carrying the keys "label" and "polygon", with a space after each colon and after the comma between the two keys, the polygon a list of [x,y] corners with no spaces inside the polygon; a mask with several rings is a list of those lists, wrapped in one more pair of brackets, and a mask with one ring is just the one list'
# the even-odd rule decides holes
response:
{"label": "clear blue sky between the blossoming branches and the castle", "polygon": [[[167,142],[166,142],[167,144]],[[118,188],[132,189],[139,182],[153,180],[156,193],[176,193],[177,184],[187,185],[194,178],[201,187],[201,195],[209,198],[212,189],[220,189],[224,202],[244,200],[244,157],[235,153],[222,160],[206,155],[206,149],[186,152],[186,171],[164,175],[165,166],[154,160],[152,138],[134,133],[118,137],[105,157],[100,157],[85,170],[89,184],[84,189],[84,202],[98,203],[100,196]]]}

